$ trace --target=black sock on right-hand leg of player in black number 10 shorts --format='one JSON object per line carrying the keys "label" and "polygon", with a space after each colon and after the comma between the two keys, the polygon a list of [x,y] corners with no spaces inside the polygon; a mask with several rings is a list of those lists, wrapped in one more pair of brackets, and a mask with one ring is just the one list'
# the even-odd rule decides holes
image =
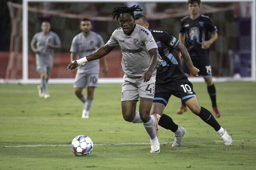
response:
{"label": "black sock on right-hand leg of player in black number 10 shorts", "polygon": [[213,127],[216,131],[220,130],[220,125],[216,121],[216,119],[213,117],[211,112],[204,107],[201,107],[201,111],[199,114],[197,114],[205,123],[209,124],[211,127]]}

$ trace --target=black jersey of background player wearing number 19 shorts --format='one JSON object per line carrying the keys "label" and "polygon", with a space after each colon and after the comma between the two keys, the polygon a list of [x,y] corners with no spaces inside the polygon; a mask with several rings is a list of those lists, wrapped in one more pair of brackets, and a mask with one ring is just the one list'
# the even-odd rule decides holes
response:
{"label": "black jersey of background player wearing number 19 shorts", "polygon": [[202,49],[201,42],[209,40],[210,35],[217,31],[208,16],[199,15],[194,20],[185,16],[181,19],[180,33],[185,33],[185,47],[191,58],[209,57],[209,49]]}

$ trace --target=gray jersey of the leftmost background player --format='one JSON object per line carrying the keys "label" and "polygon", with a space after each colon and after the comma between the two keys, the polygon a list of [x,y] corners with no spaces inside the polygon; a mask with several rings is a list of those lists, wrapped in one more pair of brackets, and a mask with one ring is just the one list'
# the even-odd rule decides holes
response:
{"label": "gray jersey of the leftmost background player", "polygon": [[47,35],[44,35],[43,32],[36,33],[31,41],[33,46],[36,46],[36,49],[39,52],[36,54],[36,65],[41,67],[52,67],[53,65],[53,52],[54,49],[45,47],[45,44],[51,43],[54,45],[61,45],[59,36],[50,31]]}

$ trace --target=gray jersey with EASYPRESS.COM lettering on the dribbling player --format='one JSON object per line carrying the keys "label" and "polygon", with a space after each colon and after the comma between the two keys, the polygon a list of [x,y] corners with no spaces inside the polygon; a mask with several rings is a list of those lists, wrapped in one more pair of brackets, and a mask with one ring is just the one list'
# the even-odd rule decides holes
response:
{"label": "gray jersey with EASYPRESS.COM lettering on the dribbling player", "polygon": [[[122,28],[116,29],[107,44],[111,47],[118,45],[121,47],[123,54],[121,65],[127,77],[141,77],[147,71],[151,62],[148,51],[157,49],[150,31],[137,24],[131,35],[123,33]],[[155,74],[156,69],[153,76]]]}

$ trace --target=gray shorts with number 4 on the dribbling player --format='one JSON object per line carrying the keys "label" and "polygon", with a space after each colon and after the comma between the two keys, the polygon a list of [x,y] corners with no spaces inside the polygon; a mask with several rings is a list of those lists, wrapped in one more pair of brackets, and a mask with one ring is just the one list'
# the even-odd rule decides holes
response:
{"label": "gray shorts with number 4 on the dribbling player", "polygon": [[[143,80],[141,80],[143,82]],[[144,82],[143,82],[144,83]],[[134,83],[124,81],[122,84],[122,97],[121,101],[153,101],[155,83],[142,86],[136,86]]]}

